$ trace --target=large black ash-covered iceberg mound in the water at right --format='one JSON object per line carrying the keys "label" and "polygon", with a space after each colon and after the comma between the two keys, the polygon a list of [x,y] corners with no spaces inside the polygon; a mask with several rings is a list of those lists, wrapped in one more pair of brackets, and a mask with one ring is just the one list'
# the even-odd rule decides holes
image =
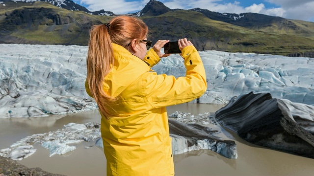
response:
{"label": "large black ash-covered iceberg mound in the water at right", "polygon": [[253,144],[314,158],[314,135],[296,122],[300,114],[292,115],[285,101],[269,93],[251,92],[232,98],[215,119]]}

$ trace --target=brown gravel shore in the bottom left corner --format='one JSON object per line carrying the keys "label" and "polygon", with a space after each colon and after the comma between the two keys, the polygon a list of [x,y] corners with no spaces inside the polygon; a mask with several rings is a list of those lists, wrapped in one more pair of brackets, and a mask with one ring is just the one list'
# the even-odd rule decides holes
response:
{"label": "brown gravel shore in the bottom left corner", "polygon": [[43,171],[40,168],[27,168],[10,158],[0,156],[0,176],[64,176]]}

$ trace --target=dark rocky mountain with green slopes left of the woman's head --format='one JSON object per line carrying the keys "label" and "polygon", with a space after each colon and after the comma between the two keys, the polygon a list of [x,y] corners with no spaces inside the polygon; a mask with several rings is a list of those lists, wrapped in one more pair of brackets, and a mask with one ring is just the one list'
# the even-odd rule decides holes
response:
{"label": "dark rocky mountain with green slopes left of the woman's head", "polygon": [[109,19],[49,2],[17,4],[7,5],[9,10],[0,5],[0,43],[87,45],[91,26]]}

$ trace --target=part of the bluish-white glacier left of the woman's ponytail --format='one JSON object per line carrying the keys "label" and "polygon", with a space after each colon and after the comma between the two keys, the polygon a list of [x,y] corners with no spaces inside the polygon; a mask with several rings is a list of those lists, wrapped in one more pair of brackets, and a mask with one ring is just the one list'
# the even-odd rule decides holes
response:
{"label": "part of the bluish-white glacier left of the woman's ponytail", "polygon": [[0,47],[0,118],[69,114],[97,108],[84,87],[86,47]]}

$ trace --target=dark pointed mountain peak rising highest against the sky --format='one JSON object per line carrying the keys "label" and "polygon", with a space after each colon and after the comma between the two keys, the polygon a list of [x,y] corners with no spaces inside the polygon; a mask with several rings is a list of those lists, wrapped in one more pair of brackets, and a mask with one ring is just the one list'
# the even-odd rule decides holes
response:
{"label": "dark pointed mountain peak rising highest against the sky", "polygon": [[158,16],[166,12],[171,11],[170,8],[166,7],[162,2],[157,0],[150,0],[143,10],[135,13],[136,16]]}

